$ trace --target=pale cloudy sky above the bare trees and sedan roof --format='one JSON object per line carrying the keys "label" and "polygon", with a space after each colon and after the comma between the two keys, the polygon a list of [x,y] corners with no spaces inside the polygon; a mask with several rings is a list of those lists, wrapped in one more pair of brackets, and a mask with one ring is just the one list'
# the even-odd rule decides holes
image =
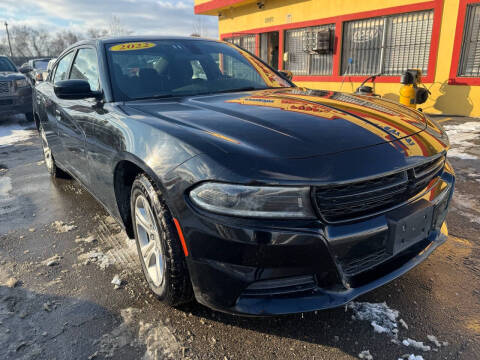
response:
{"label": "pale cloudy sky above the bare trees and sedan roof", "polygon": [[0,0],[0,37],[4,21],[85,32],[107,27],[113,16],[135,35],[190,35],[201,23],[205,37],[218,37],[217,18],[194,15],[193,0]]}

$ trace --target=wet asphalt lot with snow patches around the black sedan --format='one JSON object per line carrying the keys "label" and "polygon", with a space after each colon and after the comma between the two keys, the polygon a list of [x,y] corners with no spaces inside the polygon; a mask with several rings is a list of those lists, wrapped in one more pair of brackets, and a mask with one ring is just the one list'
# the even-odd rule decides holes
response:
{"label": "wet asphalt lot with snow patches around the black sedan", "polygon": [[480,119],[437,120],[457,174],[448,241],[355,306],[244,318],[158,302],[134,242],[76,181],[50,178],[33,124],[0,119],[0,358],[480,359]]}

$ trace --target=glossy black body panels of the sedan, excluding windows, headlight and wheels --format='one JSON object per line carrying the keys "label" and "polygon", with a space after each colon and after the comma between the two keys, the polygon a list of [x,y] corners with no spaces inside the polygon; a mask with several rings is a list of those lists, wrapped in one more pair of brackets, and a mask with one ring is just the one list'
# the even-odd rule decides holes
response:
{"label": "glossy black body panels of the sedan, excluding windows, headlight and wheels", "polygon": [[[249,315],[339,306],[408,271],[446,239],[442,224],[454,187],[445,160],[449,144],[422,113],[387,100],[297,87],[115,101],[105,49],[127,41],[135,38],[82,42],[59,57],[96,49],[103,102],[59,99],[50,79],[36,87],[35,114],[59,165],[130,236],[119,200],[126,196],[119,187],[122,169],[134,164],[155,181],[182,226],[199,302]],[[399,195],[391,202],[393,195],[385,196],[377,183],[396,177],[405,189],[395,187]],[[317,218],[213,214],[189,198],[208,181],[311,187]],[[349,205],[354,210],[338,215],[338,203],[328,212],[319,200],[326,188],[354,187],[378,190],[382,202]],[[369,196],[366,190],[357,195]],[[350,201],[353,195],[343,196]],[[398,235],[405,224],[424,226],[405,242]]]}

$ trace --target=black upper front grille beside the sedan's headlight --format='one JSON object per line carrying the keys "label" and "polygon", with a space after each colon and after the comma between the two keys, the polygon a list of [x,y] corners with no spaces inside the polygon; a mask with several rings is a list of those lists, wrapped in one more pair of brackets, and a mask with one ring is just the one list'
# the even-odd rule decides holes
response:
{"label": "black upper front grille beside the sedan's headlight", "polygon": [[342,222],[390,210],[421,192],[445,165],[445,156],[364,181],[315,188],[318,211],[327,222]]}

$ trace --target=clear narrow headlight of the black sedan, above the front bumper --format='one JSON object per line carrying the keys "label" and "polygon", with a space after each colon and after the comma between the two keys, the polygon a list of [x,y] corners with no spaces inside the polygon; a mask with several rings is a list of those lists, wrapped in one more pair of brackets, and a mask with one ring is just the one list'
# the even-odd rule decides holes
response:
{"label": "clear narrow headlight of the black sedan, above the front bumper", "polygon": [[241,217],[314,219],[309,187],[203,183],[190,191],[198,207]]}

